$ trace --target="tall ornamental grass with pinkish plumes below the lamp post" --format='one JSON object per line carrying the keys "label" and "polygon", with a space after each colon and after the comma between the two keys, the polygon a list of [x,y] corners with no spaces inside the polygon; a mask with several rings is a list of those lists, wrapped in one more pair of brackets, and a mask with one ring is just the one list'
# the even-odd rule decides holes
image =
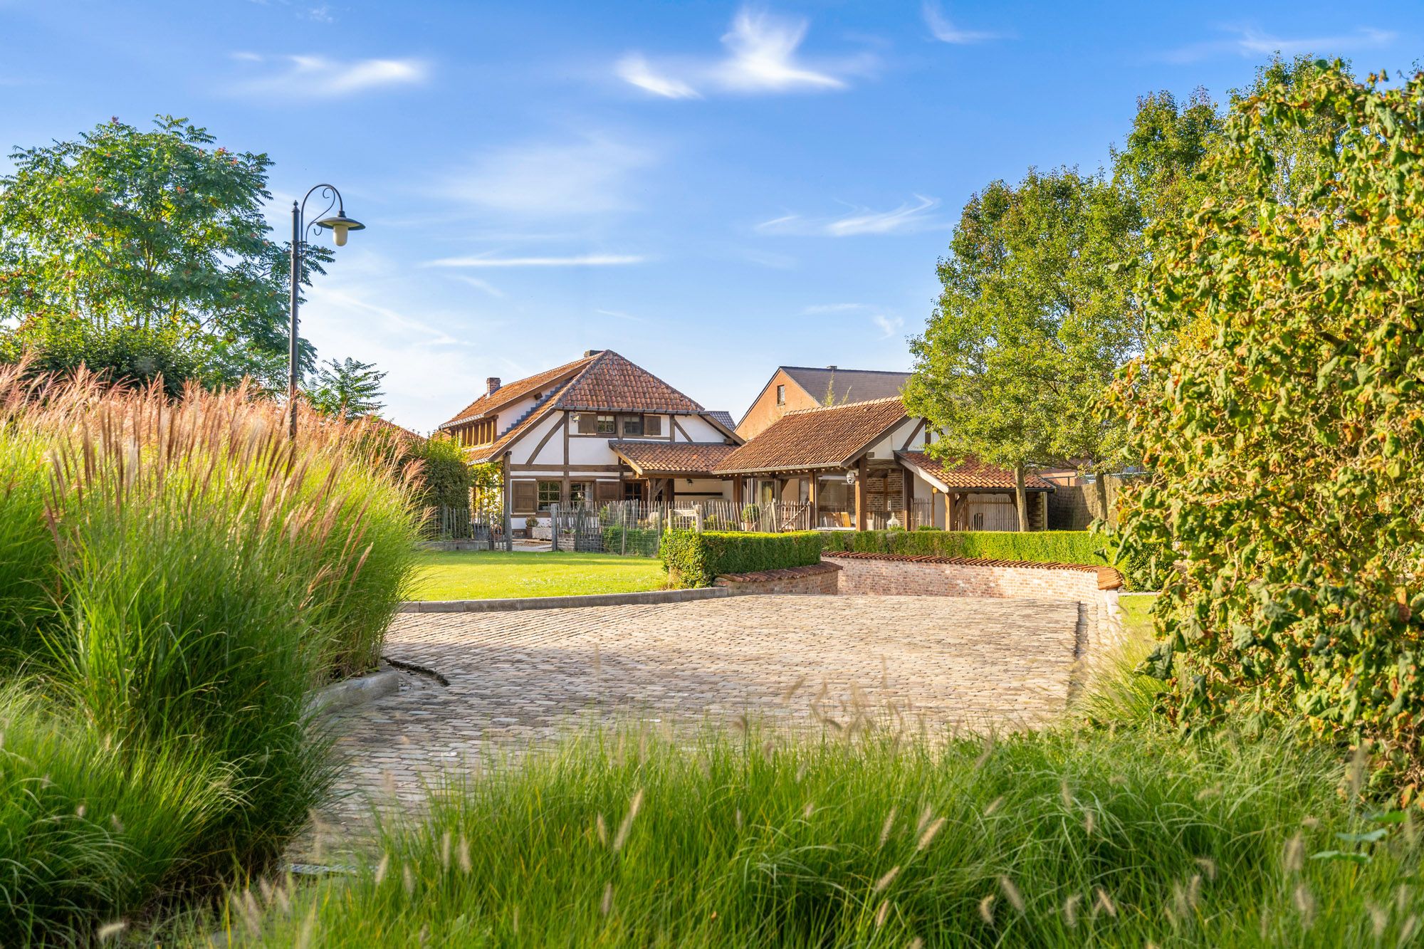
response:
{"label": "tall ornamental grass with pinkish plumes below the lamp post", "polygon": [[[242,389],[171,402],[80,378],[6,400],[7,386],[17,373],[0,373],[0,470],[23,474],[30,503],[0,514],[0,539],[26,554],[0,587],[0,617],[20,618],[0,621],[31,677],[17,688],[64,722],[11,777],[48,788],[66,755],[104,750],[90,784],[31,795],[38,845],[0,835],[17,879],[71,866],[93,895],[17,883],[0,899],[0,929],[44,942],[281,854],[332,779],[308,697],[379,660],[416,523],[413,486],[340,422],[305,413],[293,446],[282,406]],[[75,859],[50,861],[91,788],[110,809],[159,795],[154,839],[80,835]],[[124,848],[135,856],[112,856]]]}

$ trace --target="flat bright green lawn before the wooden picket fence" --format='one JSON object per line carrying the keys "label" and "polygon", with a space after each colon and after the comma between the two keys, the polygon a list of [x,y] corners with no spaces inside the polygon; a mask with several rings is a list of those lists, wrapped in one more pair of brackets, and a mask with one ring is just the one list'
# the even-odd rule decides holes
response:
{"label": "flat bright green lawn before the wooden picket fence", "polygon": [[562,597],[668,586],[659,561],[612,554],[426,551],[419,564],[416,600]]}

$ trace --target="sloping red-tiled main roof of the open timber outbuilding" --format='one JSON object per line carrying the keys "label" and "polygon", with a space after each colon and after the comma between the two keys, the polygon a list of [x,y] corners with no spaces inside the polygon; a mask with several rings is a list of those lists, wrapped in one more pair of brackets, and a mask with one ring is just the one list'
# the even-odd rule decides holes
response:
{"label": "sloping red-tiled main roof of the open timber outbuilding", "polygon": [[899,396],[787,412],[732,452],[723,474],[842,467],[906,419]]}

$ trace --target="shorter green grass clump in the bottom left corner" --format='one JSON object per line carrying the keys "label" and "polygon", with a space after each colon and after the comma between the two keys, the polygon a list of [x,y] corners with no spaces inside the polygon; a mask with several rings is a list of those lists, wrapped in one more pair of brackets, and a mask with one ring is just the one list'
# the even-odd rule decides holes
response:
{"label": "shorter green grass clump in the bottom left corner", "polygon": [[199,750],[124,747],[33,688],[0,687],[0,945],[70,943],[182,883],[239,802]]}

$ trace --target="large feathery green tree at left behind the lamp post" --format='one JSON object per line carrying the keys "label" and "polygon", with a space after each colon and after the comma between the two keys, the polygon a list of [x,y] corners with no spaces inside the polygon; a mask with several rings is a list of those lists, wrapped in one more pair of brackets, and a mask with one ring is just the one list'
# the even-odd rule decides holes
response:
{"label": "large feathery green tree at left behind the lamp post", "polygon": [[[165,115],[150,131],[115,118],[13,152],[14,171],[0,177],[0,319],[11,333],[43,343],[68,322],[165,333],[201,355],[209,378],[279,386],[289,247],[262,215],[272,161],[212,144]],[[303,259],[305,285],[330,255],[310,248]],[[315,361],[305,342],[300,359]]]}

